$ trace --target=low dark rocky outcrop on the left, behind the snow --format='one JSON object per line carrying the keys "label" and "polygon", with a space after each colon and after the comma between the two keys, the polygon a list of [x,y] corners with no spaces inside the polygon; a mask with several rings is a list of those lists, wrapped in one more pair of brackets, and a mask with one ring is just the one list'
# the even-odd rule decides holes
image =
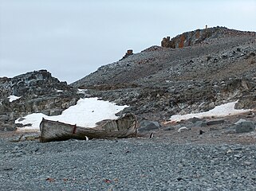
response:
{"label": "low dark rocky outcrop on the left, behind the snow", "polygon": [[[16,99],[12,101],[10,96]],[[59,115],[76,104],[80,96],[77,88],[60,82],[46,70],[0,78],[0,126],[12,129],[15,119],[31,113]]]}

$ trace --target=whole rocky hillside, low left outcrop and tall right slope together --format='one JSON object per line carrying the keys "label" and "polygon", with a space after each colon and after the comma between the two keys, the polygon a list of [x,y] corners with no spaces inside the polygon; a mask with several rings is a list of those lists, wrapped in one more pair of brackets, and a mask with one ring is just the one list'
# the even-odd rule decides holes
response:
{"label": "whole rocky hillside, low left outcrop and tall right slope together", "polygon": [[46,70],[0,78],[0,131],[15,130],[14,120],[33,112],[61,114],[85,96],[77,88],[129,105],[124,112],[139,120],[161,121],[236,100],[237,108],[256,108],[256,33],[197,29],[164,37],[161,45],[128,50],[121,60],[69,85]]}

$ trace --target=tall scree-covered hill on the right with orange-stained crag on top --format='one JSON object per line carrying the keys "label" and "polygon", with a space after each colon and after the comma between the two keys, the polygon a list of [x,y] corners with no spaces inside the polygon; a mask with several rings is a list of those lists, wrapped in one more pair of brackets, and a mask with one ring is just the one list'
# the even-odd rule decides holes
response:
{"label": "tall scree-covered hill on the right with orange-stained crag on top", "polygon": [[134,53],[71,84],[120,104],[141,119],[207,111],[234,100],[256,107],[256,34],[197,29]]}

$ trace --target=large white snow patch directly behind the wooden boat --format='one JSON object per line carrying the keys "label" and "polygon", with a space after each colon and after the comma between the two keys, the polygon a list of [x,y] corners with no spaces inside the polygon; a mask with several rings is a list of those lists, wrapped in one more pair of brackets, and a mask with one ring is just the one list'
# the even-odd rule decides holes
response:
{"label": "large white snow patch directly behind the wooden boat", "polygon": [[81,127],[96,127],[96,123],[103,119],[117,119],[115,114],[125,107],[128,106],[117,106],[115,103],[99,100],[98,98],[85,98],[78,100],[76,105],[69,107],[61,115],[47,116],[41,113],[33,113],[23,117],[24,120],[17,119],[15,123],[32,124],[31,127],[18,128],[18,131],[39,131],[42,118],[77,124]]}

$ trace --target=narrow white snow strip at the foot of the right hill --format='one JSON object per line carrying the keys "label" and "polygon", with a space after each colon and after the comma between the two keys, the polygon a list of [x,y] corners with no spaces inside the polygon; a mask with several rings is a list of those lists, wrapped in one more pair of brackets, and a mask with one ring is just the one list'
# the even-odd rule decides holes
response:
{"label": "narrow white snow strip at the foot of the right hill", "polygon": [[202,113],[195,113],[195,114],[186,114],[186,115],[172,115],[171,121],[180,121],[180,120],[187,120],[191,119],[193,117],[196,118],[204,118],[204,117],[223,117],[227,115],[238,115],[241,113],[245,113],[251,110],[236,110],[234,109],[235,103],[238,103],[238,101],[231,102],[231,103],[224,103],[222,105],[216,106],[210,111],[202,112]]}

